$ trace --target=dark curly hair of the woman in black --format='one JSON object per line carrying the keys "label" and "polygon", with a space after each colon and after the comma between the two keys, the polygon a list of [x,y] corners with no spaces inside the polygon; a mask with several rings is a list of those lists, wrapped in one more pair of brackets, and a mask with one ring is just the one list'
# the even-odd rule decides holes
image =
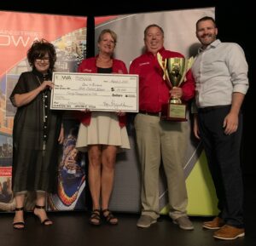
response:
{"label": "dark curly hair of the woman in black", "polygon": [[56,61],[55,46],[44,38],[34,41],[32,47],[28,49],[26,57],[29,65],[34,67],[35,60],[43,58],[45,54],[49,54],[49,70],[52,72]]}

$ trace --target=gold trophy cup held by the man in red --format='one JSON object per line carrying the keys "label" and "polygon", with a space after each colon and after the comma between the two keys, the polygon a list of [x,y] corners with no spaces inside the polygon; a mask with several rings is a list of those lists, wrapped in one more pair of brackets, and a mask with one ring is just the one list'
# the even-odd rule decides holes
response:
{"label": "gold trophy cup held by the man in red", "polygon": [[[180,87],[185,79],[186,73],[192,66],[194,58],[185,59],[183,57],[172,57],[163,60],[160,53],[157,54],[157,60],[162,68],[163,78],[170,89]],[[187,105],[179,98],[172,96],[168,102],[167,113],[163,117],[172,121],[187,121],[186,118]]]}

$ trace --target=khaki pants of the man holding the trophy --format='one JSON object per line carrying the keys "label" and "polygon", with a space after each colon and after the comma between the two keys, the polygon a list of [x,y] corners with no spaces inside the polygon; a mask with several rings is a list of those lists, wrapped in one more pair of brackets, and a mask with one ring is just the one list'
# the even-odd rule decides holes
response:
{"label": "khaki pants of the man holding the trophy", "polygon": [[135,129],[142,171],[142,215],[159,217],[161,159],[166,173],[170,216],[175,220],[186,215],[188,196],[183,161],[189,139],[188,123],[162,121],[160,117],[138,113]]}

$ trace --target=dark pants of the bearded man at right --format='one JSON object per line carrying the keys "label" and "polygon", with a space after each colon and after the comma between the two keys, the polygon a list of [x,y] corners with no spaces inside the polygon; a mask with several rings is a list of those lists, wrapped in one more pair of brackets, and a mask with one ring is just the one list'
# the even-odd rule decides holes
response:
{"label": "dark pants of the bearded man at right", "polygon": [[235,133],[224,134],[224,117],[230,106],[199,110],[201,140],[218,197],[220,217],[230,226],[243,227],[241,178],[241,114]]}

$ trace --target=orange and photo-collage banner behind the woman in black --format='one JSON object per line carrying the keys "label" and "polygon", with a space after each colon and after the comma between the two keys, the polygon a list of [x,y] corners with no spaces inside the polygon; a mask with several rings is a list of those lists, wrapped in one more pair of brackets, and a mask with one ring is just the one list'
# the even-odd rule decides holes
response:
{"label": "orange and photo-collage banner behind the woman in black", "polygon": [[[33,41],[44,38],[55,45],[57,61],[55,71],[76,72],[86,53],[86,17],[52,14],[28,14],[0,11],[0,211],[15,209],[11,190],[12,129],[15,107],[9,94],[15,87],[21,72],[30,71],[26,52]],[[50,194],[48,209],[82,209],[85,174],[84,160],[76,157],[81,167],[79,174],[67,169],[73,155],[77,125],[67,117],[64,127],[66,140],[60,151],[58,193]],[[26,209],[32,208],[32,197],[26,197]]]}

